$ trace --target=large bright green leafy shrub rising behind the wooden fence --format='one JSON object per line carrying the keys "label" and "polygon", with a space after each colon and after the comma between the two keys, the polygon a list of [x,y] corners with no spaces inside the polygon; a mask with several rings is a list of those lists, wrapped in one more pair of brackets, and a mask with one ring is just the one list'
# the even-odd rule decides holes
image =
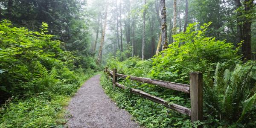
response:
{"label": "large bright green leafy shrub rising behind the wooden fence", "polygon": [[226,67],[232,68],[239,62],[238,49],[232,43],[205,36],[210,23],[200,29],[196,25],[189,24],[186,32],[173,35],[175,42],[153,58],[152,77],[188,84],[192,71],[212,76],[214,63],[226,62]]}

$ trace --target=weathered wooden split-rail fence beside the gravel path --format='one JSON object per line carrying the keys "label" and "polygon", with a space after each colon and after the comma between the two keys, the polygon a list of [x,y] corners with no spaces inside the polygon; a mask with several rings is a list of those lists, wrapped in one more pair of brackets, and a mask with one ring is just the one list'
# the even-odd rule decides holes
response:
{"label": "weathered wooden split-rail fence beside the gravel path", "polygon": [[[108,75],[111,75],[113,77],[113,87],[117,86],[122,89],[130,89],[131,93],[135,93],[153,102],[162,104],[179,113],[187,114],[191,117],[192,122],[197,120],[203,121],[203,74],[201,72],[190,73],[190,77],[189,77],[190,85],[189,85],[189,84],[180,84],[180,83],[174,83],[169,81],[162,81],[157,79],[123,75],[123,74],[117,73],[116,69],[113,69],[111,71],[111,70],[108,70],[107,67],[105,68],[104,71],[105,73],[108,73]],[[148,83],[148,84],[154,84],[154,85],[166,87],[172,90],[181,91],[183,93],[189,93],[190,100],[191,100],[191,109],[174,104],[174,103],[170,104],[169,102],[165,101],[160,97],[153,96],[149,93],[143,92],[142,90],[126,87],[122,84],[119,84],[117,82],[118,77],[123,79],[130,79],[134,81]]]}

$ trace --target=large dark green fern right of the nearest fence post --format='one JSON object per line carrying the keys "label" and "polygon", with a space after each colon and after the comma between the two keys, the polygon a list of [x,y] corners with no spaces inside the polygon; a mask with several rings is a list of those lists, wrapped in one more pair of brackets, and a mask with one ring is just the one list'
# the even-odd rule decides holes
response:
{"label": "large dark green fern right of the nearest fence post", "polygon": [[242,69],[238,64],[232,72],[226,69],[222,74],[218,63],[213,84],[204,87],[207,106],[228,122],[242,122],[255,104],[256,92],[250,91],[249,82],[253,66],[245,74]]}

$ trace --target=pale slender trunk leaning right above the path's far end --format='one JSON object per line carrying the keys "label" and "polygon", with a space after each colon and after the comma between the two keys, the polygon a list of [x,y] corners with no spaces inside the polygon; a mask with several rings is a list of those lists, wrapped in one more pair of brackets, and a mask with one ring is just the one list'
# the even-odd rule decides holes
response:
{"label": "pale slender trunk leaning right above the path's far end", "polygon": [[101,42],[100,42],[99,55],[98,55],[98,59],[96,61],[97,64],[100,64],[101,61],[102,61],[102,48],[103,48],[105,32],[106,32],[106,27],[107,27],[107,18],[108,18],[108,3],[107,3],[107,6],[106,6],[104,26],[103,26],[103,29],[102,29],[102,38],[101,38]]}

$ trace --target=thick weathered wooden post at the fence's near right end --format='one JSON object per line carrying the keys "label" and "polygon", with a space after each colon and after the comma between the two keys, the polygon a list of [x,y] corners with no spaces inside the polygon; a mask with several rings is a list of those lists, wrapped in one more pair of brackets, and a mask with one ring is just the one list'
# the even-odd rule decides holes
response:
{"label": "thick weathered wooden post at the fence's near right end", "polygon": [[[190,77],[191,121],[203,121],[203,74],[192,72]],[[203,126],[199,126],[202,128]]]}

